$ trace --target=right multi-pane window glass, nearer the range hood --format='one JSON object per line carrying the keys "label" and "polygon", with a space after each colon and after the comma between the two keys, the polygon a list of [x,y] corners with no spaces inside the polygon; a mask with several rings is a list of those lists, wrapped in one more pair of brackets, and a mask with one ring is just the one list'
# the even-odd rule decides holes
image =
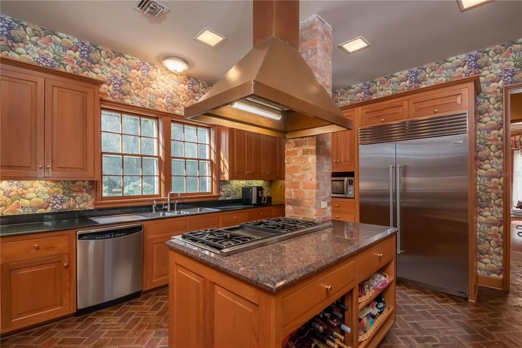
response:
{"label": "right multi-pane window glass, nearer the range hood", "polygon": [[210,193],[210,129],[171,123],[172,191]]}

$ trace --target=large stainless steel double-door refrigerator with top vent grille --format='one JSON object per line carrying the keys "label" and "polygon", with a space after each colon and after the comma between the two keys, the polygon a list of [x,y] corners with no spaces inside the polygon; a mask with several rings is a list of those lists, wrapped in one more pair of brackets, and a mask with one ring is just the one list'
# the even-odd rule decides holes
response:
{"label": "large stainless steel double-door refrigerator with top vent grille", "polygon": [[398,279],[468,296],[467,114],[359,130],[360,222],[394,226]]}

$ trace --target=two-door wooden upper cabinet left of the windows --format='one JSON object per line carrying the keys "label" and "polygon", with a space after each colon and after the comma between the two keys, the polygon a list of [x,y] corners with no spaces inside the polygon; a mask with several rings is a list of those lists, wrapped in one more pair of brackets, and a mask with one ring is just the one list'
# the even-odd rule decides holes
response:
{"label": "two-door wooden upper cabinet left of the windows", "polygon": [[96,180],[99,82],[2,59],[0,177]]}

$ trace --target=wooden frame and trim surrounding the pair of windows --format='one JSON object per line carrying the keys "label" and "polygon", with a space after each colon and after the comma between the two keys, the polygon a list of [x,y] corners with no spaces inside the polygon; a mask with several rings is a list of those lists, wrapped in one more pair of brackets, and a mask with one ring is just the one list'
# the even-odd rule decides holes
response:
{"label": "wooden frame and trim surrounding the pair of windows", "polygon": [[[210,131],[210,187],[211,193],[193,192],[182,193],[181,199],[185,202],[209,201],[219,199],[219,163],[218,148],[219,137],[217,136],[217,126],[207,123],[185,120],[182,115],[171,114],[168,112],[151,110],[143,107],[125,105],[122,103],[100,100],[101,110],[108,112],[125,113],[138,117],[156,118],[158,119],[158,158],[159,158],[159,194],[158,195],[141,195],[141,196],[102,196],[102,152],[100,151],[98,160],[100,161],[100,181],[95,182],[94,190],[96,192],[96,201],[94,207],[113,207],[113,206],[132,206],[150,204],[152,201],[157,203],[167,202],[167,194],[172,191],[172,172],[171,172],[171,122],[177,122],[187,125],[195,125],[206,127]],[[101,117],[100,117],[101,122]],[[100,149],[101,149],[101,125],[100,125]],[[123,154],[121,154],[123,156]],[[142,156],[142,155],[139,155]],[[147,157],[147,156],[146,156]],[[122,188],[123,189],[123,188]]]}

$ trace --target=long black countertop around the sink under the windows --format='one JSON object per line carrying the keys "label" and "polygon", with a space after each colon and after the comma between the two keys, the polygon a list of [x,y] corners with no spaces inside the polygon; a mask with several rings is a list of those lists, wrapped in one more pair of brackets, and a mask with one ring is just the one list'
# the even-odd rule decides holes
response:
{"label": "long black countertop around the sink under the windows", "polygon": [[[235,200],[234,200],[235,201]],[[185,204],[185,205],[179,205],[178,209],[181,210],[183,208],[190,208],[190,207],[211,207],[220,211],[232,211],[232,210],[241,210],[241,209],[251,209],[251,208],[260,208],[264,206],[274,206],[274,205],[282,205],[284,203],[265,203],[263,205],[241,205],[237,202],[223,202],[223,201],[213,201],[215,203],[208,204],[208,202],[199,202],[194,204]],[[222,202],[222,205],[219,205],[219,203]],[[224,203],[224,204],[223,204]],[[226,204],[228,203],[228,204]],[[29,222],[29,223],[16,223],[16,224],[2,224],[0,226],[0,236],[13,236],[13,235],[23,235],[28,233],[39,233],[39,232],[50,232],[50,231],[58,231],[63,229],[81,229],[81,228],[89,228],[94,226],[104,226],[104,225],[114,225],[114,224],[125,224],[127,222],[121,221],[118,223],[114,222],[107,222],[107,223],[100,223],[96,222],[89,217],[102,217],[102,216],[110,216],[110,215],[122,215],[122,214],[140,214],[145,212],[150,212],[150,207],[147,207],[147,210],[140,210],[140,211],[133,211],[135,208],[118,208],[118,209],[112,209],[106,212],[107,214],[99,214],[97,212],[89,212],[89,211],[83,211],[81,213],[77,213],[74,215],[74,218],[65,218],[65,219],[59,219],[59,218],[53,218],[48,217],[44,219],[44,221],[37,221],[37,222]],[[200,214],[212,214],[215,212],[203,212],[203,213],[194,213],[194,214],[188,214],[188,215],[174,215],[174,216],[162,216],[162,217],[149,217],[149,218],[143,218],[139,220],[132,220],[134,223],[140,223],[144,221],[150,221],[150,220],[156,220],[156,219],[172,219],[182,216],[193,216],[193,215],[200,215]],[[39,215],[39,214],[31,214],[31,215]],[[20,216],[16,216],[19,218]],[[21,216],[23,217],[23,216]],[[29,217],[27,216],[27,219],[34,218],[35,216]],[[38,216],[36,216],[38,218]],[[129,221],[130,222],[130,221]]]}

